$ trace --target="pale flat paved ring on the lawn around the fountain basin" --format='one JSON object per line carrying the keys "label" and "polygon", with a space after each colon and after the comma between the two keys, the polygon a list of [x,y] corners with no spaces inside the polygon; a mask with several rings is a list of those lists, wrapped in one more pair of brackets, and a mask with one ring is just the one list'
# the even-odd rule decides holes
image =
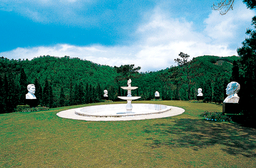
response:
{"label": "pale flat paved ring on the lawn around the fountain basin", "polygon": [[169,106],[170,110],[163,113],[147,114],[147,115],[133,115],[125,117],[93,117],[93,116],[82,116],[75,114],[79,108],[72,108],[70,110],[65,110],[57,113],[59,117],[70,118],[74,120],[86,120],[86,121],[130,121],[130,120],[147,120],[153,118],[164,118],[179,115],[185,112],[183,108]]}

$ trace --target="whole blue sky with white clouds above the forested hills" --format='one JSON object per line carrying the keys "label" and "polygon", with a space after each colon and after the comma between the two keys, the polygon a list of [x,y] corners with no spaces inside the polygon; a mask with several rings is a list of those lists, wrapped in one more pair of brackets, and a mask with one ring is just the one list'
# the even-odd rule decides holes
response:
{"label": "whole blue sky with white clouds above the forested hills", "polygon": [[176,66],[180,52],[237,55],[256,11],[235,0],[220,15],[219,1],[0,0],[0,57],[67,55],[148,72]]}

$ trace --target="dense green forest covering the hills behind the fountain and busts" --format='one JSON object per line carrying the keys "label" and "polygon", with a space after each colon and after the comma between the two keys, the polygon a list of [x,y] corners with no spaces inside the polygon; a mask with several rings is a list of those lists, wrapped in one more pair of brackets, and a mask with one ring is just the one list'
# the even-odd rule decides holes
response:
{"label": "dense green forest covering the hills behind the fountain and busts", "polygon": [[[132,95],[151,100],[158,91],[162,100],[195,100],[197,89],[203,88],[207,102],[223,102],[225,87],[232,76],[233,62],[240,57],[199,56],[187,64],[171,66],[157,72],[134,73]],[[135,68],[135,67],[134,67]],[[129,70],[128,70],[129,71]],[[103,90],[110,100],[125,96],[121,86],[125,78],[115,67],[99,65],[80,58],[40,56],[33,60],[0,58],[2,113],[12,112],[24,104],[26,86],[35,84],[39,104],[59,107],[100,102]]]}

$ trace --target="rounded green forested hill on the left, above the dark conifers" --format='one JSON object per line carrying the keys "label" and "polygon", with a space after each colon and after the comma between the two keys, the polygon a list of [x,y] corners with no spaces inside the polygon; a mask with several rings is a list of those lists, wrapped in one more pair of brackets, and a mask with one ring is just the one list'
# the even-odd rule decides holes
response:
{"label": "rounded green forested hill on the left, above the dark conifers", "polygon": [[38,78],[43,84],[47,79],[56,87],[69,87],[70,82],[83,82],[92,85],[98,83],[108,86],[113,83],[116,76],[113,67],[99,65],[80,58],[40,56],[33,60],[8,60],[1,58],[0,72],[14,73],[19,78],[20,70],[24,68],[28,83],[33,83]]}

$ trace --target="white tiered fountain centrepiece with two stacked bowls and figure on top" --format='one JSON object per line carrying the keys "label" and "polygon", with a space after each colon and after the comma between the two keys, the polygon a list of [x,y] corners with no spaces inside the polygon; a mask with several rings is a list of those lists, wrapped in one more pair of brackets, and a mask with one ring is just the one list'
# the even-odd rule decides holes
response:
{"label": "white tiered fountain centrepiece with two stacked bowls and figure on top", "polygon": [[138,98],[141,98],[140,96],[134,96],[132,97],[132,90],[135,90],[138,87],[132,87],[131,86],[132,80],[129,79],[127,81],[127,85],[128,86],[122,86],[121,88],[123,90],[127,90],[127,96],[118,96],[118,98],[121,98],[122,100],[126,100],[127,104],[126,104],[126,112],[120,112],[120,113],[116,113],[116,114],[126,114],[126,113],[133,113],[132,112],[132,100],[137,100]]}

